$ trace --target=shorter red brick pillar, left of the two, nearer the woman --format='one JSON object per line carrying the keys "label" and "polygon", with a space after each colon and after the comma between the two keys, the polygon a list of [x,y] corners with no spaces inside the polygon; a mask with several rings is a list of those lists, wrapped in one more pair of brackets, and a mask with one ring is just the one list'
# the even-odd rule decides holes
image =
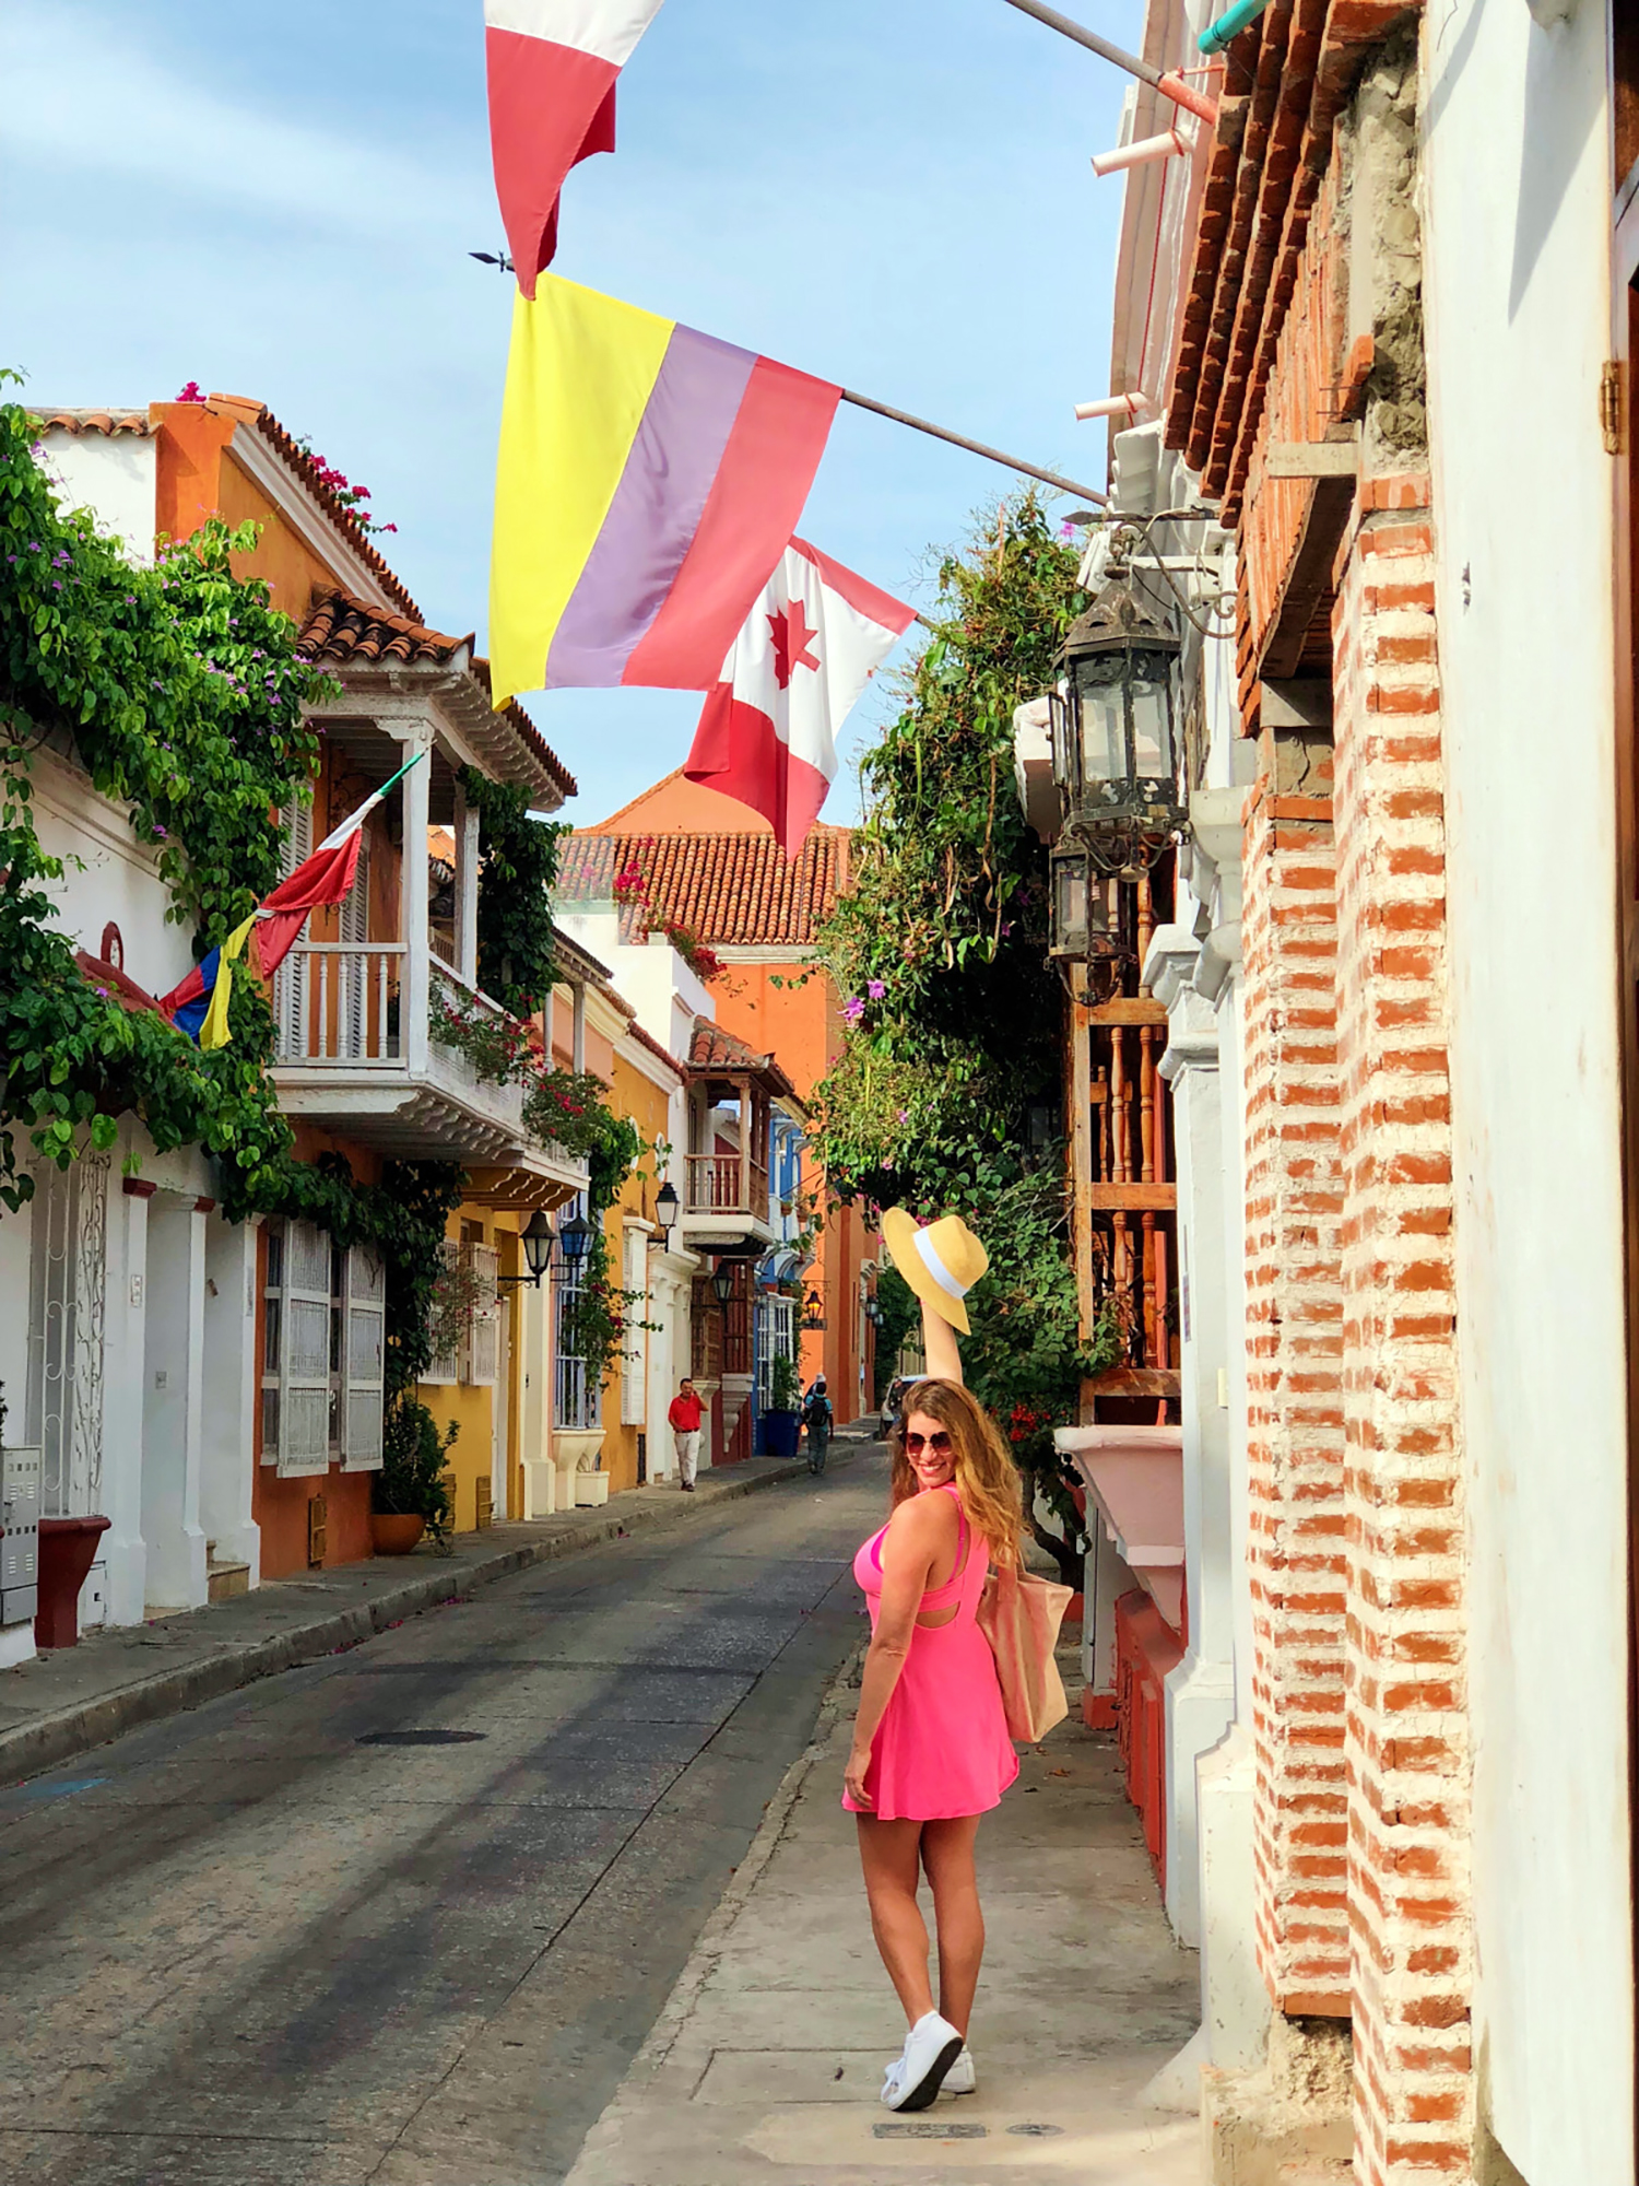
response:
{"label": "shorter red brick pillar, left of the two, nearer the woman", "polygon": [[1348,2009],[1342,1178],[1329,798],[1248,794],[1246,1281],[1259,1956]]}

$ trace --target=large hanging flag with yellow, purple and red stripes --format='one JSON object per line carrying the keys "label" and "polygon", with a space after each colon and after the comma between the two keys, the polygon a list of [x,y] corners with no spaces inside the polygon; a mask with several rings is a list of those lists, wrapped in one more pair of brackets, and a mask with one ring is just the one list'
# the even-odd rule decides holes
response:
{"label": "large hanging flag with yellow, purple and red stripes", "polygon": [[841,389],[542,273],[511,306],[490,562],[494,702],[710,691]]}

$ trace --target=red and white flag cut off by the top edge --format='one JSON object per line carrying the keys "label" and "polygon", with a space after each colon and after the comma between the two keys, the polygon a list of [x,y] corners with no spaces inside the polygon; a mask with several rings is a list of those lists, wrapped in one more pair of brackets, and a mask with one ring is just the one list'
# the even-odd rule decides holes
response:
{"label": "red and white flag cut off by the top edge", "polygon": [[614,79],[660,0],[483,0],[490,149],[518,286],[557,249],[557,192],[594,151],[614,151]]}

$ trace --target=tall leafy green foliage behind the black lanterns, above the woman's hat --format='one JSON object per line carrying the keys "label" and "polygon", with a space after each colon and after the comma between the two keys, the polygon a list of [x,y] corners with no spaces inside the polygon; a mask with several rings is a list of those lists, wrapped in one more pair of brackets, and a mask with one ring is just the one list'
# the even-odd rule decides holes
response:
{"label": "tall leafy green foliage behind the black lanterns, above the woman's hat", "polygon": [[[1080,1377],[1115,1355],[1110,1331],[1080,1342],[1062,1170],[1027,1145],[1029,1106],[1060,1097],[1064,1003],[1012,717],[1051,686],[1086,606],[1075,568],[1034,492],[944,560],[905,708],[863,763],[854,892],[822,936],[846,1034],[817,1093],[815,1152],[841,1198],[962,1213],[983,1237],[990,1272],[968,1294],[962,1366],[1003,1421],[1018,1403],[1073,1419]],[[876,1298],[885,1314],[916,1312],[898,1279],[879,1279]],[[1038,1484],[1066,1526],[1064,1541],[1038,1537],[1069,1556],[1077,1521],[1051,1430],[1014,1449],[1027,1500]]]}

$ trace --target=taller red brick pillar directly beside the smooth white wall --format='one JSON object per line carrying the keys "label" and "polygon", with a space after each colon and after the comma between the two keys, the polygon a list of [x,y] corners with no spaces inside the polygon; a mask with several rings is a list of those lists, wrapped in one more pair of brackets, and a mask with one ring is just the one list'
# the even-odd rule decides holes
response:
{"label": "taller red brick pillar directly beside the smooth white wall", "polygon": [[1427,477],[1361,483],[1333,610],[1355,2177],[1469,2175],[1469,1753]]}

